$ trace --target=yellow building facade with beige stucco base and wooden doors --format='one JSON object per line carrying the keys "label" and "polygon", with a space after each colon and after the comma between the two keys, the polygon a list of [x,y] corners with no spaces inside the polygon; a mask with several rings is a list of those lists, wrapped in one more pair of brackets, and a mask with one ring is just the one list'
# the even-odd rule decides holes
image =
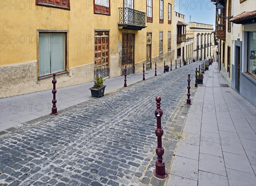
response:
{"label": "yellow building facade with beige stucco base and wooden doors", "polygon": [[[172,0],[0,0],[0,98],[170,62]],[[93,85],[93,83],[92,83]]]}

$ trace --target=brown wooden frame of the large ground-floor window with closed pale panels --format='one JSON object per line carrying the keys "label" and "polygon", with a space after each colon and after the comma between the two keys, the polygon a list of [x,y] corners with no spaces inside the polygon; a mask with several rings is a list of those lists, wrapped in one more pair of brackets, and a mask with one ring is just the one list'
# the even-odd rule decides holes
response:
{"label": "brown wooden frame of the large ground-floor window with closed pale panels", "polygon": [[53,73],[44,75],[44,76],[39,76],[39,34],[40,33],[64,33],[65,34],[65,62],[64,62],[64,70],[60,71],[60,72],[54,72],[55,74],[63,74],[63,73],[68,73],[68,55],[69,55],[69,51],[68,51],[68,37],[69,37],[69,31],[68,30],[37,30],[37,71],[38,71],[38,80],[40,79],[45,79],[45,78],[50,78],[52,77]]}

